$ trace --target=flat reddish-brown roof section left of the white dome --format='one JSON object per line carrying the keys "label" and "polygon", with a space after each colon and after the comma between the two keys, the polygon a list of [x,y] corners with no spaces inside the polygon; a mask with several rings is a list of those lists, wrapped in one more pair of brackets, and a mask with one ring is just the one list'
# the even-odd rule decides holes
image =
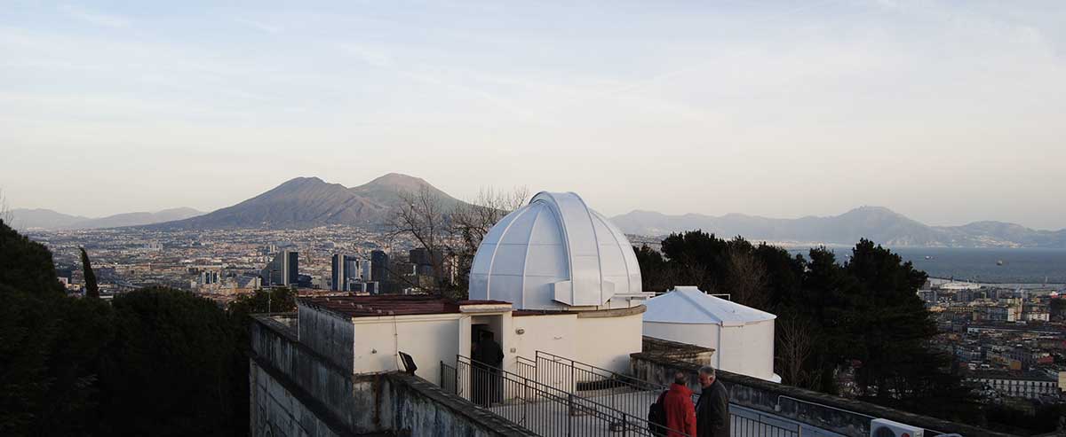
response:
{"label": "flat reddish-brown roof section left of the white dome", "polygon": [[351,317],[455,314],[459,312],[457,302],[434,296],[338,296],[300,298],[300,302]]}

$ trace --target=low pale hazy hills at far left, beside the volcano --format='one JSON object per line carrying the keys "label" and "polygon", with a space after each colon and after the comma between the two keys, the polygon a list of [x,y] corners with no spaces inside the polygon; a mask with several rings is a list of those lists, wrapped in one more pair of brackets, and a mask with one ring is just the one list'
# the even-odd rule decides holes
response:
{"label": "low pale hazy hills at far left, beside the volcano", "polygon": [[156,213],[125,213],[108,217],[87,218],[58,213],[51,209],[12,209],[12,223],[16,229],[75,230],[135,226],[163,221],[180,220],[204,214],[190,207],[163,209]]}

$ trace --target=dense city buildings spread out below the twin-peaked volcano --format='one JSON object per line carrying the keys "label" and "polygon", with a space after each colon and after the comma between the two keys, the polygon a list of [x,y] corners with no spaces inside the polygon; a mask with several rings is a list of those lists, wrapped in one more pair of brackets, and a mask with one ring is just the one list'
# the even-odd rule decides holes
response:
{"label": "dense city buildings spread out below the twin-peaked volcano", "polygon": [[[408,271],[409,268],[387,266],[390,257],[386,251],[406,254],[414,247],[402,237],[386,238],[379,230],[339,225],[305,230],[124,228],[26,233],[52,251],[61,282],[72,292],[84,285],[78,251],[84,247],[106,298],[164,285],[203,293],[220,302],[272,285],[294,286],[302,293],[329,291],[332,260],[337,253],[358,262],[346,273],[353,279],[352,291],[377,293],[382,286],[379,281],[370,280],[371,252],[381,251],[378,274],[388,278],[389,269]],[[284,252],[289,252],[288,258]]]}

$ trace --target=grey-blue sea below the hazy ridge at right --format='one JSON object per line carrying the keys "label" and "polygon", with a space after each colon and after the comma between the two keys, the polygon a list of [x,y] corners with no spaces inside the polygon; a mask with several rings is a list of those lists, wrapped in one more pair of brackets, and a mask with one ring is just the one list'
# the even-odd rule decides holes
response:
{"label": "grey-blue sea below the hazy ridge at right", "polygon": [[[851,248],[831,247],[843,263]],[[1066,249],[889,248],[932,278],[1003,286],[1066,287]],[[808,249],[790,248],[807,256]]]}

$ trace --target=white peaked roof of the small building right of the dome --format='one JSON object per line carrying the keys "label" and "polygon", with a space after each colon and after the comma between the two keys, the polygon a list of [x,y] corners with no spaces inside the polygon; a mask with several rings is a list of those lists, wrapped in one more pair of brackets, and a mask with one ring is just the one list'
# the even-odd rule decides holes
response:
{"label": "white peaked roof of the small building right of the dome", "polygon": [[718,324],[739,326],[777,316],[715,298],[697,287],[675,287],[669,292],[648,300],[645,322]]}

